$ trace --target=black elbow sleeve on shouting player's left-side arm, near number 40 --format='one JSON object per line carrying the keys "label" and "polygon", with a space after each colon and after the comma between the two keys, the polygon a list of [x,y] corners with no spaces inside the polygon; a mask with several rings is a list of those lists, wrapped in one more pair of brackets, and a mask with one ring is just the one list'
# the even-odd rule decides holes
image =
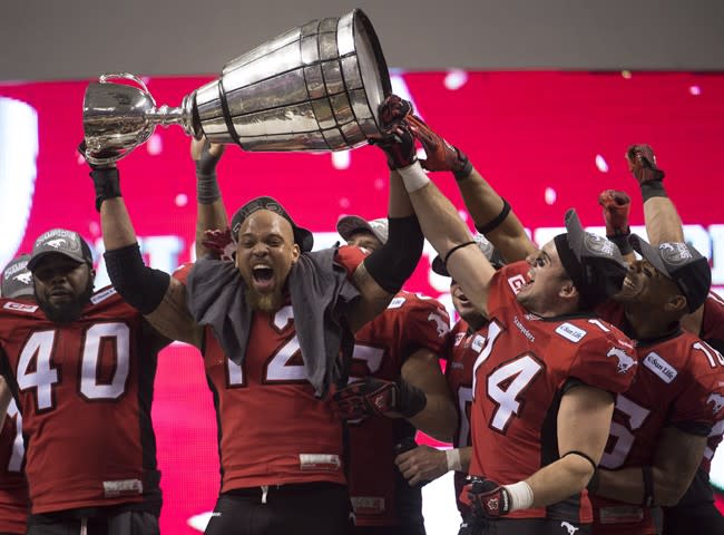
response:
{"label": "black elbow sleeve on shouting player's left-side arm, near number 40", "polygon": [[114,288],[124,300],[141,314],[148,314],[160,304],[170,275],[144,264],[138,243],[106,251],[106,269]]}

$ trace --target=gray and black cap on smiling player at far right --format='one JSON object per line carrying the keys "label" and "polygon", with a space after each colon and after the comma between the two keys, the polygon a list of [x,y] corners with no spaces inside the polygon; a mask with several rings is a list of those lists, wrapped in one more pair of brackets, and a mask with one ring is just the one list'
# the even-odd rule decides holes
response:
{"label": "gray and black cap on smiling player at far right", "polygon": [[664,242],[655,247],[636,234],[628,241],[656,271],[676,283],[686,298],[689,312],[704,304],[712,285],[712,270],[698,251],[682,242]]}

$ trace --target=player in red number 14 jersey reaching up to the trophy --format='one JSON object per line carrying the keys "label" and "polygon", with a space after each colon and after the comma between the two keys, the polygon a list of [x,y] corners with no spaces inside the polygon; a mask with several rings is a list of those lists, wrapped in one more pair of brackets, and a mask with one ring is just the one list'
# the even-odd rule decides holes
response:
{"label": "player in red number 14 jersey reaching up to the trophy", "polygon": [[[414,148],[409,117],[409,103],[399,100],[390,130],[400,147]],[[570,211],[565,234],[496,272],[420,164],[405,163],[398,173],[425,237],[490,319],[473,370],[472,479],[462,497],[472,513],[461,533],[584,529],[585,487],[606,445],[612,393],[628,388],[636,364],[632,342],[591,313],[620,289],[623,259],[609,241],[584,232]],[[488,234],[508,214],[503,205]]]}

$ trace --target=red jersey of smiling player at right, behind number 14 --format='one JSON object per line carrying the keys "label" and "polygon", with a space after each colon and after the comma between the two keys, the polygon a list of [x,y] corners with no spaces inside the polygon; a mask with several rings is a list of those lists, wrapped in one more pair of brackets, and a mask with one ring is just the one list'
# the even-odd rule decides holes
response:
{"label": "red jersey of smiling player at right, behind number 14", "polygon": [[[632,388],[616,398],[610,437],[600,466],[650,465],[662,428],[707,436],[724,418],[724,358],[697,337],[679,331],[636,343],[638,369]],[[596,531],[655,534],[649,510],[591,496]],[[638,531],[636,531],[638,529]],[[632,533],[634,533],[632,532]]]}

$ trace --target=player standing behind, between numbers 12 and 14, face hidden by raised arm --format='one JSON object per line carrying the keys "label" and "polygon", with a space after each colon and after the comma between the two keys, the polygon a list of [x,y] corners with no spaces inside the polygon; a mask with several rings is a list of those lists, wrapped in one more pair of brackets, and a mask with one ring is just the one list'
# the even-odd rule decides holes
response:
{"label": "player standing behind, between numbers 12 and 14, face hidden by raised arm", "polygon": [[[365,221],[348,215],[340,218],[336,230],[348,245],[368,252],[388,241],[387,218]],[[456,412],[438,357],[449,330],[448,313],[438,301],[400,291],[383,313],[355,333],[350,372],[353,389],[360,380],[378,388],[404,381],[421,389],[427,402],[409,420],[375,418],[365,411],[345,415],[351,418],[348,479],[355,523],[352,533],[424,534],[421,488],[408,485],[394,469],[394,449],[400,444],[412,445],[415,428],[439,440],[452,438]],[[337,399],[344,392],[342,389]]]}

